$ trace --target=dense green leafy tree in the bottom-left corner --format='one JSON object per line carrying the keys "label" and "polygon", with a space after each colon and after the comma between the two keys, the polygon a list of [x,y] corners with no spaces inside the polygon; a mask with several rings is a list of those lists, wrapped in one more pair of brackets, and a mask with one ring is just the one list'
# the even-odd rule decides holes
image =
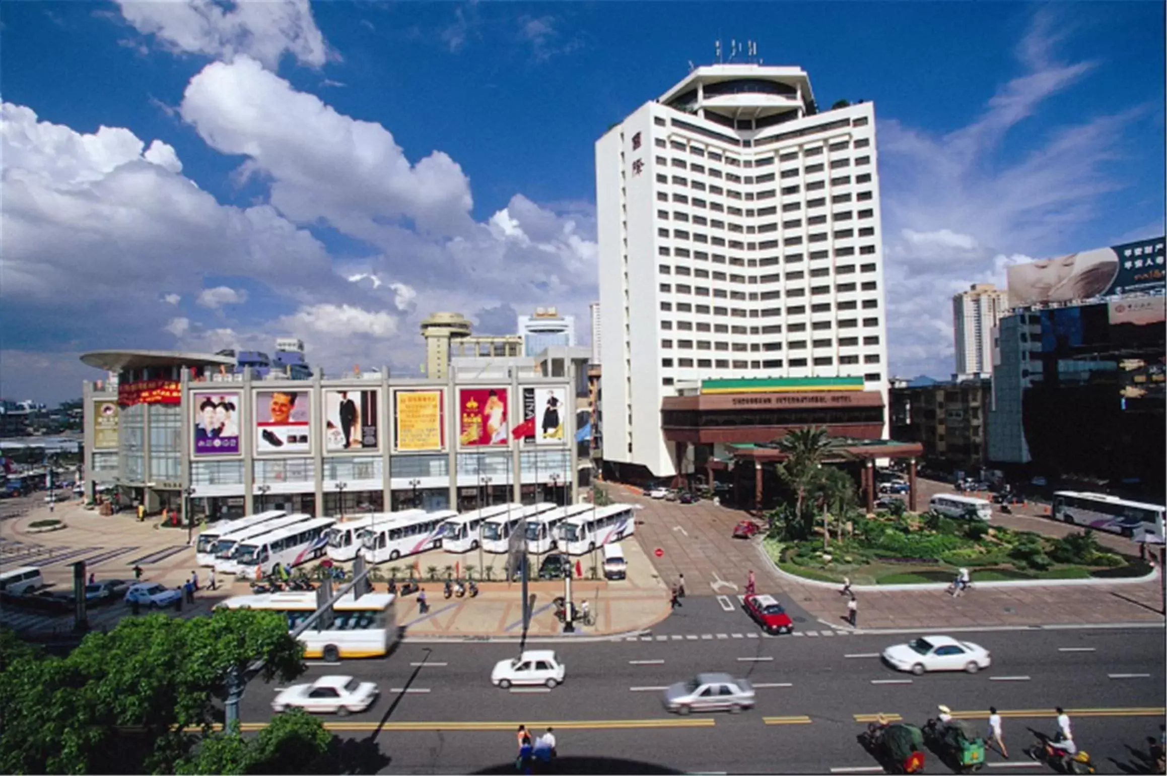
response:
{"label": "dense green leafy tree in the bottom-left corner", "polygon": [[[235,666],[264,659],[264,676],[292,680],[302,645],[275,613],[126,618],[90,634],[64,658],[0,638],[0,772],[170,772],[196,736],[219,721],[216,701]],[[183,728],[187,732],[183,732]]]}

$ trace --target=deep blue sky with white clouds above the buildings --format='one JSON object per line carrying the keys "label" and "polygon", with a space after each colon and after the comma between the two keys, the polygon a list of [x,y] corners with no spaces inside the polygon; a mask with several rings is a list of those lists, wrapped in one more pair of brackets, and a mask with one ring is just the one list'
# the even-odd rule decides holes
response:
{"label": "deep blue sky with white clouds above the buildings", "polygon": [[[952,369],[948,298],[1163,232],[1163,6],[26,2],[0,7],[0,394],[97,348],[421,361],[595,299],[593,144],[757,41],[874,100],[892,371]],[[106,127],[99,132],[100,127]],[[355,279],[355,280],[354,280]],[[580,329],[587,336],[587,326]]]}

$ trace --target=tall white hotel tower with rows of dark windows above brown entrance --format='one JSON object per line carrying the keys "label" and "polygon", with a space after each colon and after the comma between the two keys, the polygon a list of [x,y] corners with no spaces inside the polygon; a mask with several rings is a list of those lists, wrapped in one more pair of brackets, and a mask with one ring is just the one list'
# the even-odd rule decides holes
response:
{"label": "tall white hotel tower with rows of dark windows above brown entrance", "polygon": [[801,68],[697,68],[595,166],[607,461],[676,474],[661,403],[701,379],[862,377],[887,406],[871,103],[818,112]]}

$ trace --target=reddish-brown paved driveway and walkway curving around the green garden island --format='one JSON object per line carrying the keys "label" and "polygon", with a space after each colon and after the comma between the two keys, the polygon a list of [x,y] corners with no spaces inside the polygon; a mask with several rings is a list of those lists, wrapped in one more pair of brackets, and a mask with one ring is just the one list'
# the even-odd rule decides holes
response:
{"label": "reddish-brown paved driveway and walkway curving around the green garden island", "polygon": [[[822,587],[780,574],[766,557],[761,541],[733,538],[733,526],[749,515],[711,501],[680,504],[647,498],[640,489],[606,483],[614,501],[640,504],[636,537],[647,553],[656,547],[656,560],[666,582],[685,574],[690,595],[743,593],[753,569],[761,593],[776,593],[811,617],[846,629],[846,599],[839,588]],[[994,522],[997,516],[993,517]],[[1025,518],[1028,530],[1054,536],[1064,524]],[[1121,537],[1104,537],[1131,543]],[[1110,543],[1106,543],[1111,546]],[[1131,552],[1127,548],[1127,552]],[[1137,552],[1137,550],[1135,550]],[[943,590],[886,590],[857,594],[859,625],[871,628],[957,628],[1036,624],[1111,624],[1163,622],[1162,588],[1149,581],[1125,585],[974,588],[953,599]]]}

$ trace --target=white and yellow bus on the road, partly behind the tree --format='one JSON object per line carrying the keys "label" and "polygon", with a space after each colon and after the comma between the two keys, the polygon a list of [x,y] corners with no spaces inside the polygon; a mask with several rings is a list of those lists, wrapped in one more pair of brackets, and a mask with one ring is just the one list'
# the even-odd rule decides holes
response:
{"label": "white and yellow bus on the road, partly behind the tree", "polygon": [[[389,593],[368,593],[354,599],[349,593],[333,604],[331,623],[323,628],[309,625],[300,634],[303,656],[323,658],[329,663],[342,657],[385,657],[400,634],[397,628],[396,599],[396,595]],[[287,617],[291,632],[316,610],[316,594],[284,592],[237,595],[216,608],[279,611]]]}

